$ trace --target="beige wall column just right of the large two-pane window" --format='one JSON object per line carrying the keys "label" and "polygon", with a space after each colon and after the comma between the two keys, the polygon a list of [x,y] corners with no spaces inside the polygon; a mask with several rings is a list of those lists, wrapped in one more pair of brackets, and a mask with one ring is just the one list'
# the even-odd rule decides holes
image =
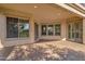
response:
{"label": "beige wall column just right of the large two-pane window", "polygon": [[30,41],[31,42],[34,42],[34,20],[33,20],[33,16],[31,16],[30,18]]}

